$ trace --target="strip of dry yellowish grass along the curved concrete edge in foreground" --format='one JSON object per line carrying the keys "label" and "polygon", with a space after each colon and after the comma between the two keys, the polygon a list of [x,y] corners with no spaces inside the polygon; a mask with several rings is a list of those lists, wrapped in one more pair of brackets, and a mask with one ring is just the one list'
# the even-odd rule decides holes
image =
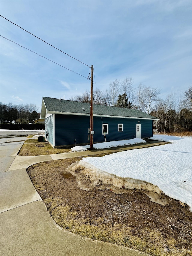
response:
{"label": "strip of dry yellowish grass along the curved concrete edge in foreground", "polygon": [[175,239],[165,238],[158,230],[144,228],[133,235],[131,227],[125,224],[116,224],[112,227],[102,218],[98,218],[94,223],[88,218],[77,218],[76,212],[71,211],[70,207],[58,198],[46,199],[45,203],[50,205],[48,209],[55,222],[77,235],[127,246],[154,256],[192,255],[191,250],[179,250]]}

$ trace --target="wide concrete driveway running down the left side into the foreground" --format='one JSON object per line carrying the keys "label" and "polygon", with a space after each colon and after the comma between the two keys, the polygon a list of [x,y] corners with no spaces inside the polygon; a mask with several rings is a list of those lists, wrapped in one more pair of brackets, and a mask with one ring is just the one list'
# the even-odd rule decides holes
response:
{"label": "wide concrete driveway running down the left side into the foreground", "polygon": [[26,168],[13,167],[28,133],[2,133],[0,130],[0,255],[148,255],[62,230],[47,211]]}

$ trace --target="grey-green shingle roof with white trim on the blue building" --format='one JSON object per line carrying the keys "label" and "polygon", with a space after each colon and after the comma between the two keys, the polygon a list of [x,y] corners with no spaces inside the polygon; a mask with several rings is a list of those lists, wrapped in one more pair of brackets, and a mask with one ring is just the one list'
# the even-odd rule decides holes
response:
{"label": "grey-green shingle roof with white trim on the blue building", "polygon": [[[83,110],[84,109],[84,110]],[[55,98],[42,98],[41,118],[44,119],[46,114],[67,114],[67,115],[90,115],[90,103],[59,100]],[[129,109],[122,107],[112,107],[105,105],[93,104],[93,116],[106,117],[124,117],[124,118],[141,118],[155,119],[158,118],[146,114],[137,109]]]}

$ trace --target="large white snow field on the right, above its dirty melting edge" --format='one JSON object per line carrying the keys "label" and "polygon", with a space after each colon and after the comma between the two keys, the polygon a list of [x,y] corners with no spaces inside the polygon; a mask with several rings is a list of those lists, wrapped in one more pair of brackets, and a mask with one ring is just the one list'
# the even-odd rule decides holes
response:
{"label": "large white snow field on the right, above its dirty melting edge", "polygon": [[173,144],[87,157],[79,164],[93,171],[152,183],[167,196],[188,204],[192,211],[192,137],[154,135],[151,139]]}

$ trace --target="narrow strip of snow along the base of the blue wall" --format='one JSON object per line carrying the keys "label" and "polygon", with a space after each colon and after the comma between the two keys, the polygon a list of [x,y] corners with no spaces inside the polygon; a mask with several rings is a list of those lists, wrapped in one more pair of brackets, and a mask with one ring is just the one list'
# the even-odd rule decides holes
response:
{"label": "narrow strip of snow along the base of the blue wall", "polygon": [[[93,144],[93,148],[94,149],[107,149],[107,148],[118,147],[118,146],[134,145],[137,143],[146,143],[146,141],[142,140],[140,138],[135,138],[135,139],[131,139],[131,140],[109,141],[109,142]],[[75,146],[75,147],[71,148],[71,150],[72,150],[72,152],[85,151],[85,150],[89,149],[89,147],[90,147],[90,145]]]}

